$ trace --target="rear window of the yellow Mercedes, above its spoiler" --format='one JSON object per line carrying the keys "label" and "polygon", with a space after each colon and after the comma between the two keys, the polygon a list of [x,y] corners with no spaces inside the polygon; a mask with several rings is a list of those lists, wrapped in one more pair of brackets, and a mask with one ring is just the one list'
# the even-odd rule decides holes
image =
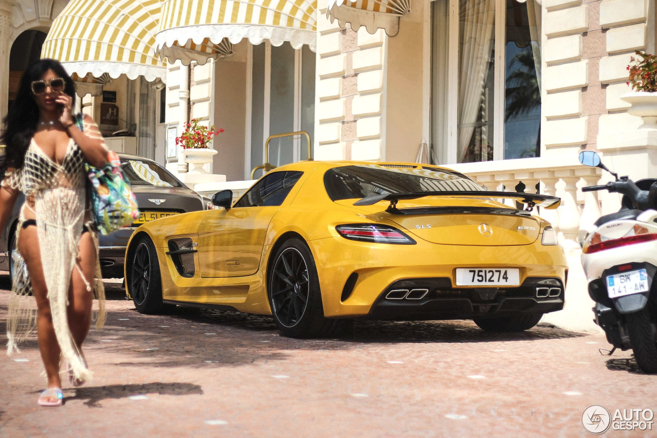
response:
{"label": "rear window of the yellow Mercedes, above its spoiler", "polygon": [[383,193],[483,191],[476,182],[452,170],[430,166],[383,168],[379,164],[329,169],[324,174],[324,186],[332,201]]}

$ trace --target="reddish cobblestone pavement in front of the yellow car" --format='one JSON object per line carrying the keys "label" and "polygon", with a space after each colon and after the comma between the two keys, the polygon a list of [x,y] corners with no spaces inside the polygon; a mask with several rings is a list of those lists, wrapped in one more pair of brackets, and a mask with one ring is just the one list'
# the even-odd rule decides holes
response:
{"label": "reddish cobblestone pavement in front of the yellow car", "polygon": [[[2,333],[8,287],[0,276]],[[0,436],[585,437],[591,404],[657,410],[657,376],[601,347],[601,332],[491,334],[464,321],[288,339],[271,318],[238,312],[141,315],[115,289],[85,343],[93,381],[66,383],[64,406],[36,404],[35,341],[0,358]]]}

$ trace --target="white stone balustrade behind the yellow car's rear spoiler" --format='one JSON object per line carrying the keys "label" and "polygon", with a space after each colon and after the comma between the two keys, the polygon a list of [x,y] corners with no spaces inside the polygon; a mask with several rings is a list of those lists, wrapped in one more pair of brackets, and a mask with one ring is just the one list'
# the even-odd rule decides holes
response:
{"label": "white stone balustrade behind the yellow car's rear spoiler", "polygon": [[[579,164],[578,157],[520,158],[451,164],[445,167],[463,172],[480,185],[494,191],[518,191],[561,198],[556,210],[538,209],[535,214],[549,221],[559,235],[564,249],[579,250],[579,230],[587,228],[600,217],[598,192],[582,193],[581,187],[597,185],[601,170]],[[518,188],[516,189],[516,186]],[[514,201],[504,201],[514,205]]]}

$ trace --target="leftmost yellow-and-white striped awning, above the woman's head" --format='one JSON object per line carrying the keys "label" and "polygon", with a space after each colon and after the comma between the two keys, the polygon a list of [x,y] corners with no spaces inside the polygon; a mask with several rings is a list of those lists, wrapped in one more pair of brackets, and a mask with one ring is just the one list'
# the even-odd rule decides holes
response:
{"label": "leftmost yellow-and-white striped awning, above the woman's head", "polygon": [[80,78],[109,74],[166,80],[166,62],[154,55],[162,0],[71,0],[48,32],[42,58]]}

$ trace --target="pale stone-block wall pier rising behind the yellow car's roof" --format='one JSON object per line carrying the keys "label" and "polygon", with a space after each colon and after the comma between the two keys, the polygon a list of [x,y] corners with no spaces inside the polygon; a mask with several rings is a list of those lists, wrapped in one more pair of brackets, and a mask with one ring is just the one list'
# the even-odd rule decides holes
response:
{"label": "pale stone-block wall pier rising behind the yellow car's roof", "polygon": [[382,30],[340,29],[325,5],[318,12],[315,159],[384,158],[386,38]]}

